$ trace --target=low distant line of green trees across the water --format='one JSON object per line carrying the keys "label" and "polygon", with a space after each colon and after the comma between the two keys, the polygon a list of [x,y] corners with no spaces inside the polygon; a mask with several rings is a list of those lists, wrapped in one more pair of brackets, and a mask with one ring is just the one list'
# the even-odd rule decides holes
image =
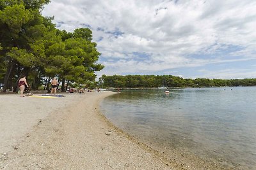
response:
{"label": "low distant line of green trees across the water", "polygon": [[252,79],[186,79],[172,75],[103,75],[99,85],[103,82],[104,88],[152,88],[152,87],[225,87],[225,86],[254,86],[256,78]]}

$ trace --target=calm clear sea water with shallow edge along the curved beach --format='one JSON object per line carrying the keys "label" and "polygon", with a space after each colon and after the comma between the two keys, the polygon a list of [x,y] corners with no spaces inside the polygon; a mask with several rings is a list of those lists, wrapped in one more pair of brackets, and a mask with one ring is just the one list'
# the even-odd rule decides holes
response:
{"label": "calm clear sea water with shallow edge along the curved beach", "polygon": [[256,169],[256,87],[168,90],[122,90],[102,101],[102,112],[167,154]]}

